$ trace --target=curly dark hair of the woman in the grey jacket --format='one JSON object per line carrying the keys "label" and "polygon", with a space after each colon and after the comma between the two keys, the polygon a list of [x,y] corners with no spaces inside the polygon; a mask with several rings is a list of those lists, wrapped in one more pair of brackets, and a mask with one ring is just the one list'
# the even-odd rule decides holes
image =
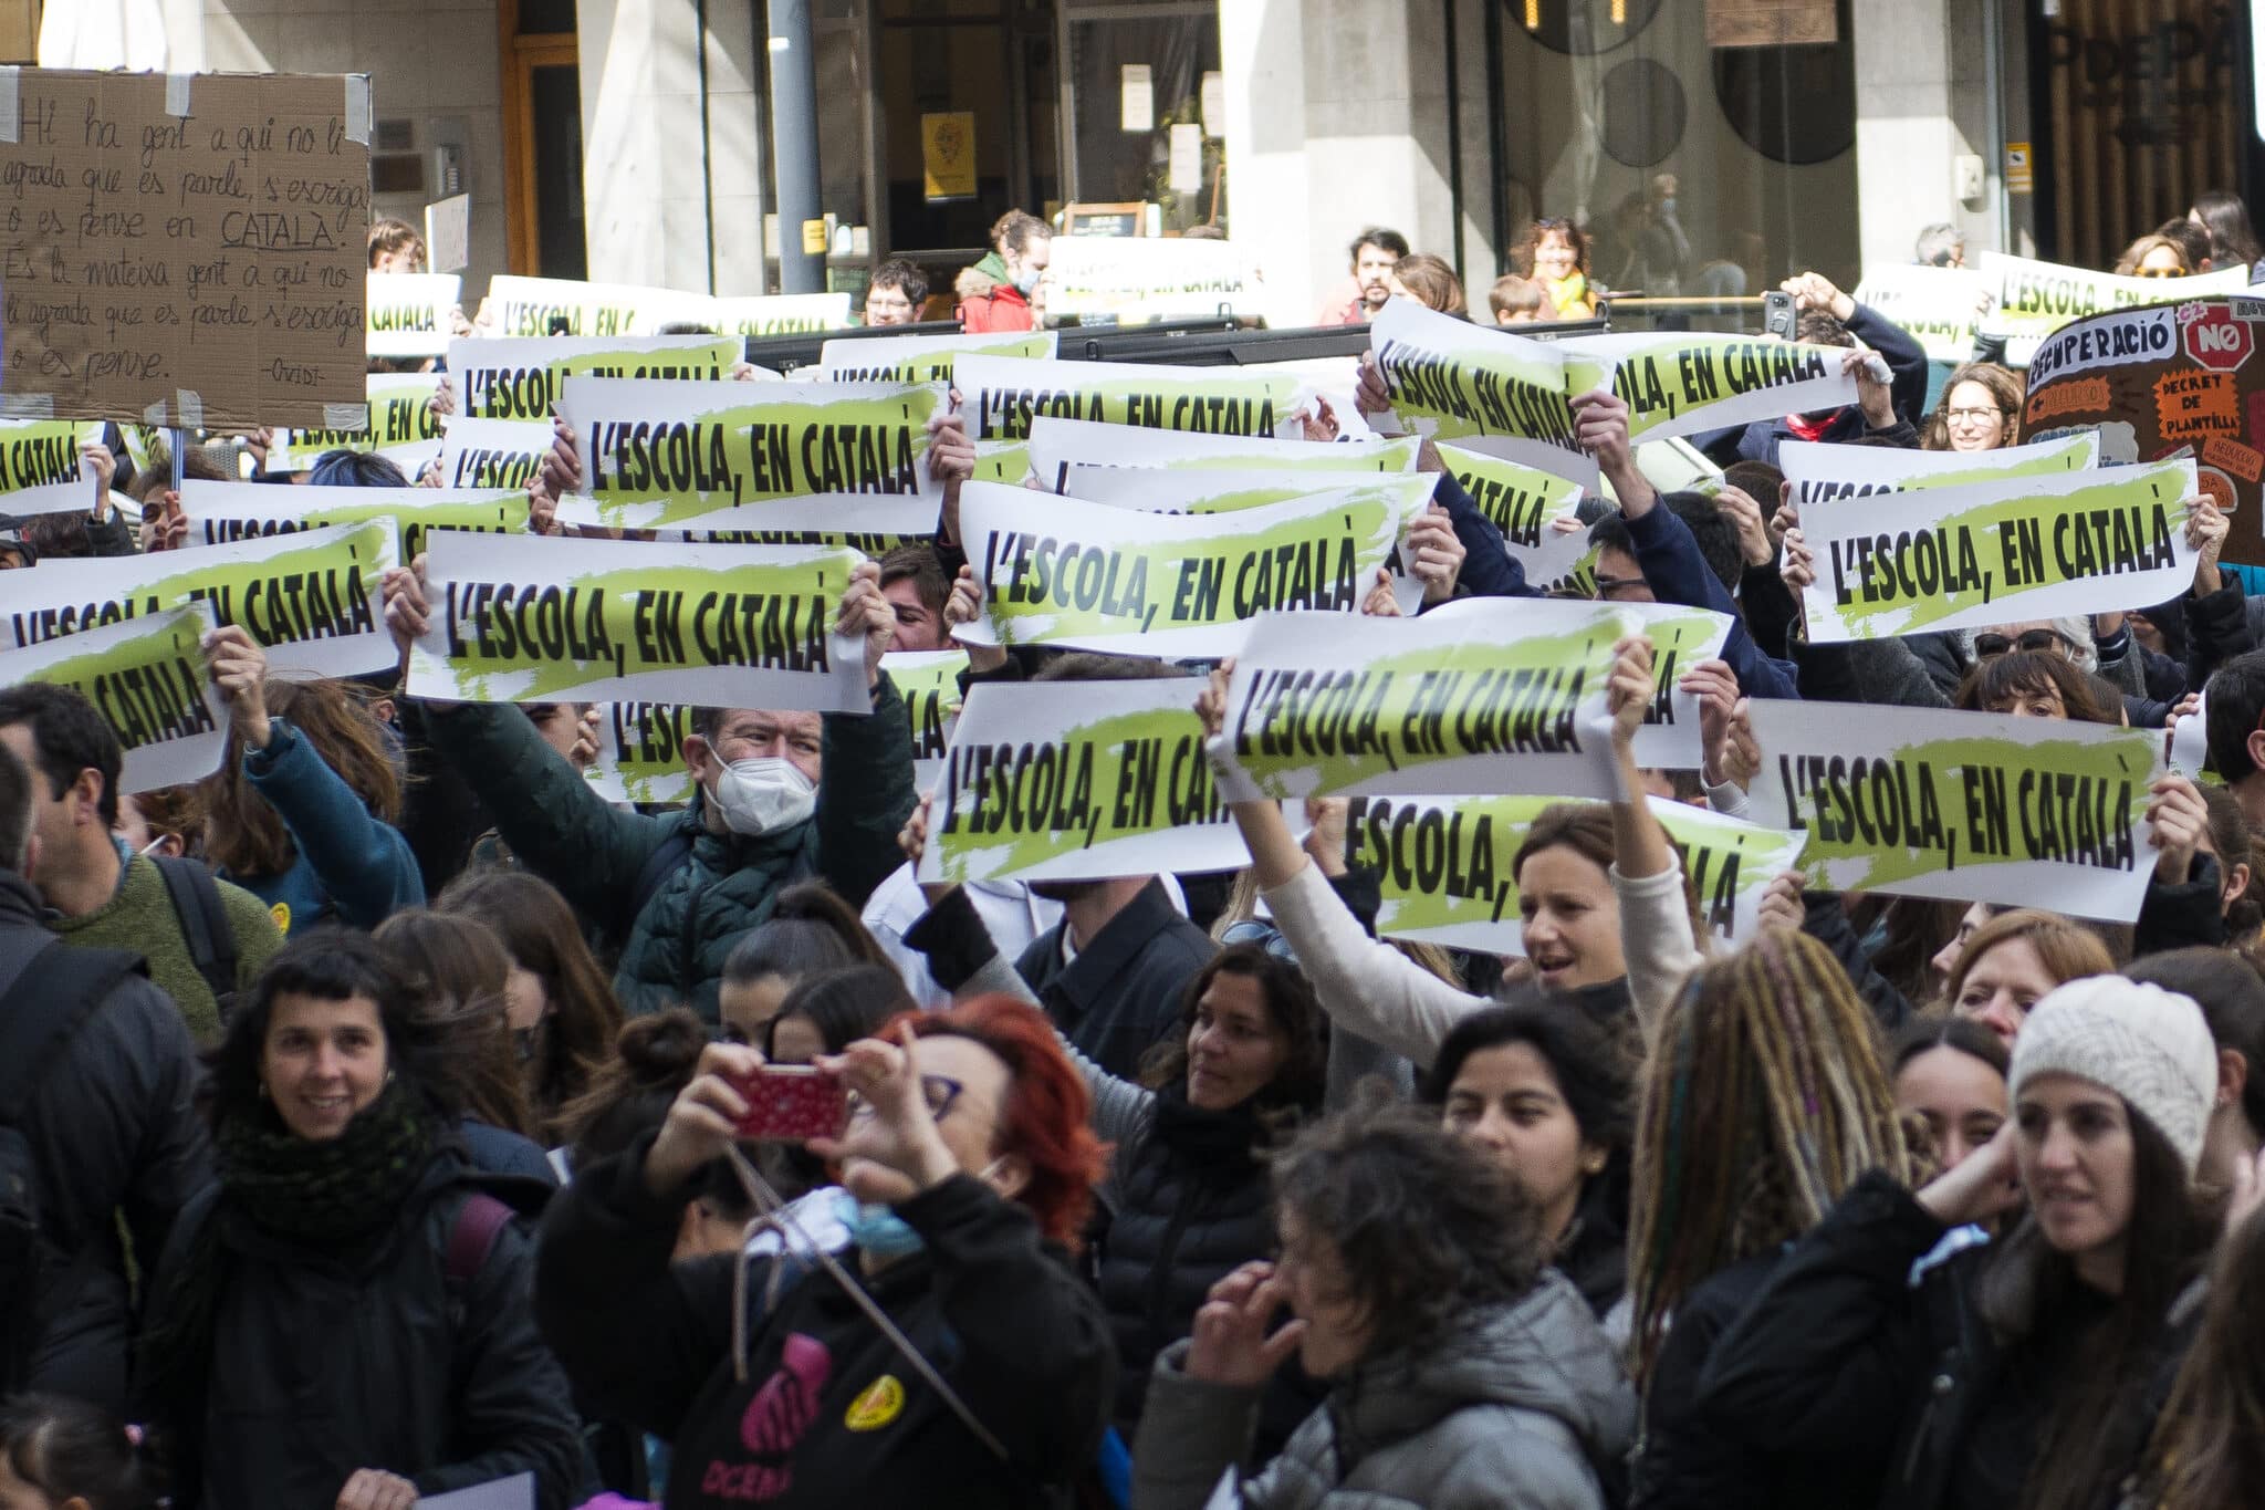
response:
{"label": "curly dark hair of the woman in the grey jacket", "polygon": [[1547,1245],[1508,1170],[1420,1107],[1368,1093],[1273,1157],[1275,1200],[1325,1241],[1386,1347],[1425,1349],[1533,1288]]}

